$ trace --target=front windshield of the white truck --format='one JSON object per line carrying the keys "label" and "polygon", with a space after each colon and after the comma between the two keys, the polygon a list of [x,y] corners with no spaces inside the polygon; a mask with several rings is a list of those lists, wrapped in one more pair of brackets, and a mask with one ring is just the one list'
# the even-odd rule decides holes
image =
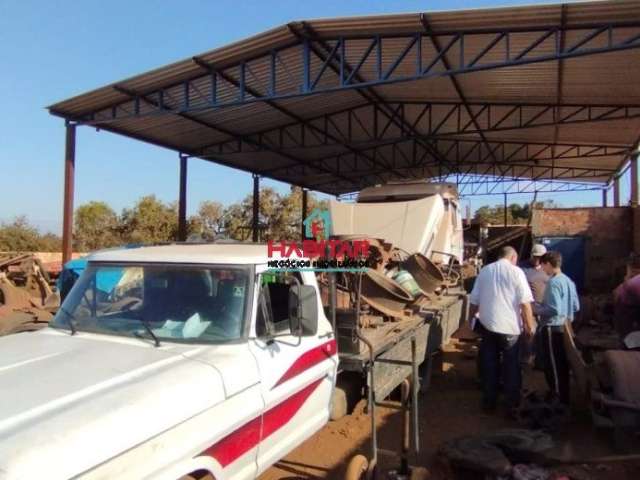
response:
{"label": "front windshield of the white truck", "polygon": [[219,343],[242,337],[249,271],[230,266],[89,264],[52,320],[56,328]]}

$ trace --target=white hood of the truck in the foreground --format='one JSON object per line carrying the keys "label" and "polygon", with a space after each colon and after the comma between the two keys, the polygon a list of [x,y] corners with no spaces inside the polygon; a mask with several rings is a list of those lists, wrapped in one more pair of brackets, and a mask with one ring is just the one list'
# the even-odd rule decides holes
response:
{"label": "white hood of the truck in the foreground", "polygon": [[0,478],[73,477],[222,402],[219,371],[188,358],[202,348],[53,329],[0,338]]}

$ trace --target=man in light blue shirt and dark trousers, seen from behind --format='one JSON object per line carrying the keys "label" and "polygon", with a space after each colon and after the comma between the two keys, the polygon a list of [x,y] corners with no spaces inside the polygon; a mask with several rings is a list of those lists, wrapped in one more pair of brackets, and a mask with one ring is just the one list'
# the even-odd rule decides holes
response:
{"label": "man in light blue shirt and dark trousers, seen from behind", "polygon": [[551,392],[569,404],[569,362],[564,349],[564,324],[573,322],[580,309],[578,292],[573,281],[562,273],[562,255],[547,252],[540,260],[549,275],[542,303],[534,305],[539,315],[542,335],[544,374]]}

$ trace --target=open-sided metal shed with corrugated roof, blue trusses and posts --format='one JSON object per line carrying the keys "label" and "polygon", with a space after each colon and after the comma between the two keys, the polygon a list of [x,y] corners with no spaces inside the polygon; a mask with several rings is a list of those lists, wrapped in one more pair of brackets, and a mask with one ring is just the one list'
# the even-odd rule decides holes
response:
{"label": "open-sided metal shed with corrugated roof, blue trusses and posts", "polygon": [[48,108],[67,122],[65,254],[78,125],[179,152],[183,232],[189,157],[252,173],[254,195],[260,177],[619,192],[631,168],[637,204],[640,4],[291,22]]}

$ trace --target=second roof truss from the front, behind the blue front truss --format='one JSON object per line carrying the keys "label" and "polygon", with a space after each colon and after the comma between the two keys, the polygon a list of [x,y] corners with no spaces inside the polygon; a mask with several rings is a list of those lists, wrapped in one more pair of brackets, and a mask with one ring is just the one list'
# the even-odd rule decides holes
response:
{"label": "second roof truss from the front, behind the blue front truss", "polygon": [[[476,125],[466,115],[466,108],[462,102],[387,102],[389,108],[400,117],[404,123],[412,125],[417,134],[397,133],[396,129],[375,128],[376,122],[382,124],[375,116],[381,112],[375,103],[366,103],[349,107],[337,112],[319,115],[307,120],[306,124],[290,123],[275,128],[264,129],[247,137],[260,143],[268,141],[269,145],[286,150],[288,148],[312,148],[326,145],[349,145],[360,149],[363,144],[377,141],[400,141],[403,138],[416,136],[433,137],[434,139],[475,134],[479,131],[503,132],[557,125],[579,125],[583,123],[598,124],[611,120],[626,120],[640,118],[640,105],[588,105],[588,104],[508,104],[508,103],[468,103],[477,110]],[[385,118],[388,119],[387,116]],[[445,119],[452,118],[446,122]],[[333,142],[324,132],[333,125],[347,125],[342,131],[346,137],[340,142]],[[389,124],[389,121],[387,121]],[[317,127],[319,135],[309,135],[305,132],[307,125]],[[235,140],[215,142],[205,147],[203,151],[227,151],[238,153],[243,146]]]}

